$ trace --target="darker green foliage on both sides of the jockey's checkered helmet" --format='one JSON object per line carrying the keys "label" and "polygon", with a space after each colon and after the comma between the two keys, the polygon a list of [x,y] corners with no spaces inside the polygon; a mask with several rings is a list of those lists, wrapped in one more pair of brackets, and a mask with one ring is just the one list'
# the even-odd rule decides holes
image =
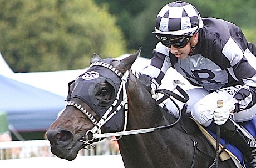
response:
{"label": "darker green foliage on both sides of the jockey's checkered helmet", "polygon": [[[193,4],[201,17],[215,17],[237,24],[243,31],[256,27],[255,0],[184,0]],[[128,48],[137,49],[142,46],[142,56],[151,57],[157,39],[152,30],[155,18],[166,0],[95,0],[97,4],[109,4],[109,10],[117,18],[117,24],[124,31]],[[247,33],[245,33],[247,36]],[[251,36],[252,35],[252,36]],[[255,41],[256,33],[247,36],[248,41]]]}

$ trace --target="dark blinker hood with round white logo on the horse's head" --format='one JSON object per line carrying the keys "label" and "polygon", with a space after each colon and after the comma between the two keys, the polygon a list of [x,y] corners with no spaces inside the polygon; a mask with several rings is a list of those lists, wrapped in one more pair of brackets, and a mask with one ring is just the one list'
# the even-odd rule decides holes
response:
{"label": "dark blinker hood with round white logo on the horse's head", "polygon": [[[106,59],[105,59],[106,60]],[[109,59],[109,62],[114,59]],[[104,61],[105,62],[105,61]],[[109,63],[110,64],[110,63]],[[100,102],[95,96],[95,86],[101,82],[107,82],[112,86],[112,96],[110,100]],[[70,83],[71,84],[71,83]],[[90,106],[90,108],[97,113],[101,118],[112,105],[116,99],[118,89],[121,85],[121,79],[112,70],[100,65],[93,65],[85,73],[81,74],[75,80],[75,87],[72,93],[68,94],[67,100],[71,98],[79,98]],[[120,99],[117,101],[118,106],[122,101],[122,91],[120,93]],[[116,110],[116,106],[113,107],[113,111]],[[111,114],[110,113],[110,114]],[[109,114],[109,115],[110,115]],[[122,123],[124,119],[124,108],[122,108],[114,117],[112,117],[103,126],[106,132],[121,131]]]}

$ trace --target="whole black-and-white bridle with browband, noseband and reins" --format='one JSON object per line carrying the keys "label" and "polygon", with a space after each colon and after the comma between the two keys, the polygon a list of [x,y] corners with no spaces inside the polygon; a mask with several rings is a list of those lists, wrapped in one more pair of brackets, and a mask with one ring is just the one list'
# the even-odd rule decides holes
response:
{"label": "whole black-and-white bridle with browband, noseband and reins", "polygon": [[[98,122],[89,113],[89,111],[87,111],[85,108],[83,108],[78,103],[75,103],[73,101],[69,101],[68,104],[66,105],[66,106],[75,106],[77,109],[82,111],[82,113],[85,114],[91,120],[91,122],[94,125],[91,130],[88,130],[86,132],[84,140],[80,140],[84,144],[88,144],[88,145],[92,146],[93,148],[95,148],[92,145],[92,141],[95,141],[96,139],[99,139],[99,141],[100,141],[101,138],[111,138],[112,136],[119,136],[119,138],[116,139],[116,140],[119,140],[123,135],[149,133],[149,132],[154,132],[154,131],[160,130],[160,129],[169,129],[169,128],[173,127],[175,124],[177,124],[179,122],[179,120],[181,118],[181,109],[179,108],[178,104],[176,104],[176,102],[171,98],[171,96],[173,96],[174,98],[176,98],[176,99],[178,99],[180,101],[183,101],[183,102],[188,101],[189,96],[179,86],[176,86],[175,88],[181,93],[181,95],[183,95],[184,98],[181,98],[179,95],[175,94],[173,91],[170,91],[170,90],[156,89],[156,90],[154,90],[155,93],[164,94],[165,98],[161,99],[161,101],[163,101],[166,98],[169,98],[171,101],[173,101],[173,103],[175,104],[176,108],[179,111],[178,119],[174,123],[172,123],[170,125],[157,126],[156,128],[147,128],[147,129],[137,129],[137,130],[126,131],[127,116],[128,116],[128,98],[127,98],[127,92],[126,92],[126,85],[127,85],[128,80],[129,80],[129,70],[127,70],[124,74],[122,74],[115,67],[113,67],[110,64],[104,63],[104,62],[92,63],[90,65],[90,67],[96,66],[96,65],[97,66],[106,67],[106,68],[110,69],[112,72],[114,72],[121,79],[121,85],[120,85],[120,87],[118,89],[118,92],[117,92],[117,95],[116,95],[116,99],[114,100],[112,105],[109,107],[109,109],[107,109],[106,113],[102,116],[102,118]],[[176,83],[177,82],[178,81],[176,80]],[[120,102],[120,104],[117,104],[119,99],[121,99],[120,98],[121,91],[122,91],[122,101]],[[115,108],[115,111],[112,111],[114,108]],[[121,108],[124,108],[124,128],[122,129],[122,131],[115,132],[115,133],[101,133],[101,127],[107,121],[109,121],[115,114],[117,114],[120,111]],[[91,139],[89,139],[89,134],[92,135]]]}

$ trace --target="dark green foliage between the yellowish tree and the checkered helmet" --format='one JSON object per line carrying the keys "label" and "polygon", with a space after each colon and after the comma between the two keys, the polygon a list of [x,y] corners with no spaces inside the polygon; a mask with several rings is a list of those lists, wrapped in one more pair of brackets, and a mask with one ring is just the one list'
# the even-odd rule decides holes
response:
{"label": "dark green foliage between the yellowish tree and the checkered helmet", "polygon": [[121,27],[127,40],[127,47],[132,53],[142,46],[143,57],[151,57],[157,39],[152,30],[155,18],[161,7],[170,3],[166,0],[95,0],[99,5],[109,7],[111,14],[117,18],[117,25]]}

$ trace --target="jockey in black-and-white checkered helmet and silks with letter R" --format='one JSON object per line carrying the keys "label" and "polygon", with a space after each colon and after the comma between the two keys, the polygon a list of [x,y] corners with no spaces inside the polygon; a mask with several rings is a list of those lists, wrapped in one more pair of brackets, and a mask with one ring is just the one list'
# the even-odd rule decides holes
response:
{"label": "jockey in black-and-white checkered helmet and silks with letter R", "polygon": [[[239,125],[256,116],[255,46],[239,27],[221,19],[202,19],[194,6],[182,1],[161,9],[153,33],[160,42],[150,65],[142,70],[151,88],[158,88],[173,67],[198,86],[187,91],[193,118],[214,132],[216,124],[221,125],[221,138],[243,152],[249,167],[256,167],[255,140]],[[219,99],[224,103],[218,108]],[[171,101],[166,108],[175,111]]]}

